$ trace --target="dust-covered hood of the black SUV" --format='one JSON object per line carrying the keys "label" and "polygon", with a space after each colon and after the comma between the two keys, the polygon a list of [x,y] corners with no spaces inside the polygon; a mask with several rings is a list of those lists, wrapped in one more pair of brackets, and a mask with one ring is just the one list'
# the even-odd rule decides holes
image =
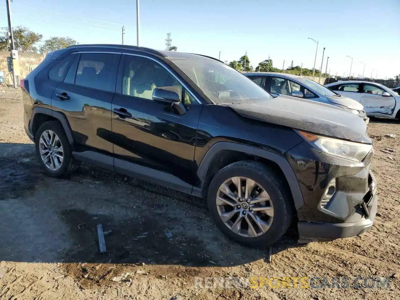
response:
{"label": "dust-covered hood of the black SUV", "polygon": [[346,140],[363,136],[367,128],[362,118],[342,108],[284,95],[223,105],[246,118]]}

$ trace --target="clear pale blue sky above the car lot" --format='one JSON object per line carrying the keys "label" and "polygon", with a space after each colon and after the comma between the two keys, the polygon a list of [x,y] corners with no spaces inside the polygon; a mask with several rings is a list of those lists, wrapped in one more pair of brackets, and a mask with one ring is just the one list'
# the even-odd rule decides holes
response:
{"label": "clear pale blue sky above the car lot", "polygon": [[[178,51],[200,53],[225,61],[247,54],[255,68],[258,62],[273,60],[285,68],[303,65],[312,68],[319,41],[316,68],[322,49],[328,71],[348,76],[352,73],[378,78],[400,73],[400,1],[268,1],[268,0],[140,0],[140,46],[165,48],[166,33]],[[26,26],[50,36],[70,36],[80,44],[124,43],[136,45],[136,1],[122,0],[14,0],[13,26]],[[7,26],[5,3],[0,18]]]}

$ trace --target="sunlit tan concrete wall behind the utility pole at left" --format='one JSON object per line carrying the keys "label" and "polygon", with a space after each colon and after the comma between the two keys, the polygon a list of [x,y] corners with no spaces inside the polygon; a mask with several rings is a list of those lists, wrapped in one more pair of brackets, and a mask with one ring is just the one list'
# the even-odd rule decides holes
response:
{"label": "sunlit tan concrete wall behind the utility pole at left", "polygon": [[[18,53],[18,58],[14,59],[15,74],[20,79],[25,78],[42,60],[44,60],[45,54],[36,53]],[[0,73],[4,72],[4,77],[8,79],[10,84],[12,83],[11,70],[11,58],[10,52],[0,51]]]}

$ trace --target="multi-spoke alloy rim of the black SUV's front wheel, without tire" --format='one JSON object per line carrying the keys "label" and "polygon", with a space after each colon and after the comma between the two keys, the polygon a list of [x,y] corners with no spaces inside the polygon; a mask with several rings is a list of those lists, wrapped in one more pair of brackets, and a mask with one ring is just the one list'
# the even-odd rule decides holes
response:
{"label": "multi-spoke alloy rim of the black SUV's front wheel, without tire", "polygon": [[247,177],[232,177],[218,188],[218,214],[239,236],[254,238],[264,234],[274,219],[274,207],[266,190]]}

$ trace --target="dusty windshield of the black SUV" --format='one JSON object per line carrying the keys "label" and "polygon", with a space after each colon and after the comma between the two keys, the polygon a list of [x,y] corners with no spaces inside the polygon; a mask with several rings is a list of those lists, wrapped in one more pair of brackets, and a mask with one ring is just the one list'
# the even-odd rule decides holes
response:
{"label": "dusty windshield of the black SUV", "polygon": [[242,104],[273,97],[230,66],[211,59],[170,58],[216,104]]}

